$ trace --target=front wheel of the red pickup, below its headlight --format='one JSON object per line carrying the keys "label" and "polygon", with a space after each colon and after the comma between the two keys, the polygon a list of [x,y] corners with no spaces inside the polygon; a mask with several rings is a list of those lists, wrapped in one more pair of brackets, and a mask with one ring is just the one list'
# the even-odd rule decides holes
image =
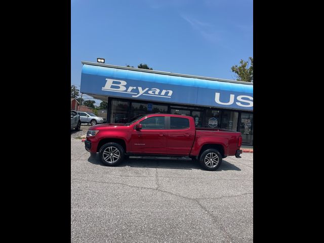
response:
{"label": "front wheel of the red pickup, below its headlight", "polygon": [[101,161],[106,166],[117,166],[125,156],[124,148],[118,143],[106,143],[99,151]]}

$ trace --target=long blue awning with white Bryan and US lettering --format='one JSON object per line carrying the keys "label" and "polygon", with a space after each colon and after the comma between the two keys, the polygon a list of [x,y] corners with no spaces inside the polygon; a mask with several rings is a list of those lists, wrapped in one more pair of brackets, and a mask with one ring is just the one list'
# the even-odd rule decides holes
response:
{"label": "long blue awning with white Bryan and US lettering", "polygon": [[253,110],[253,85],[84,64],[80,92],[174,104]]}

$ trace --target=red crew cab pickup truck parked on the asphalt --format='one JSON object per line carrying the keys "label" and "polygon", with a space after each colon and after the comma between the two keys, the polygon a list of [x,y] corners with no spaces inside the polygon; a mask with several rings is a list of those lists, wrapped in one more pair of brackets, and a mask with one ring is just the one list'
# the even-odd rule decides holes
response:
{"label": "red crew cab pickup truck parked on the asphalt", "polygon": [[129,155],[189,156],[208,171],[219,168],[222,158],[240,158],[242,137],[224,129],[195,128],[193,117],[145,114],[131,123],[90,127],[86,149],[107,166],[118,165]]}

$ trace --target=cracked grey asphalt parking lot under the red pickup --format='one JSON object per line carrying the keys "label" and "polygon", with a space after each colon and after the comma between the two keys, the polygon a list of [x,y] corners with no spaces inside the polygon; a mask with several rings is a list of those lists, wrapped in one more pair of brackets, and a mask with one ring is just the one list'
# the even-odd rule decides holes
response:
{"label": "cracked grey asphalt parking lot under the red pickup", "polygon": [[191,159],[106,167],[75,139],[82,127],[71,130],[71,242],[253,242],[253,153],[215,172]]}

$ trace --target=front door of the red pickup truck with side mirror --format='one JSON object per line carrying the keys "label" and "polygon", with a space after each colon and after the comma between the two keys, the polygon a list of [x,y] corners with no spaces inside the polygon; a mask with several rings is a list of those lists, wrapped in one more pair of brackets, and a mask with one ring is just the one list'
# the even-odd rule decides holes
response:
{"label": "front door of the red pickup truck with side mirror", "polygon": [[[137,123],[136,123],[137,124]],[[132,130],[131,152],[139,154],[166,153],[166,117],[151,116],[140,121],[141,130]]]}

